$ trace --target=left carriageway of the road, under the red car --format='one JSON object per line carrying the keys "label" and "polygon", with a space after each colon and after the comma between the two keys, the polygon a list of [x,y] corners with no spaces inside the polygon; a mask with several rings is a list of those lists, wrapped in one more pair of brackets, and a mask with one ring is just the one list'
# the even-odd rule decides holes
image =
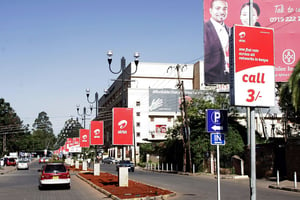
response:
{"label": "left carriageway of the road, under the red car", "polygon": [[71,175],[71,189],[38,189],[37,162],[31,163],[29,170],[15,170],[0,175],[1,200],[99,200],[109,199],[104,194]]}

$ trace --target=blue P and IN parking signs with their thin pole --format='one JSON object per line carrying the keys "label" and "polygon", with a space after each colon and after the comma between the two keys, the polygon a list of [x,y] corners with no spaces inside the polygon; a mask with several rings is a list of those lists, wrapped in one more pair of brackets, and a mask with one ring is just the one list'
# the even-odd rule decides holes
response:
{"label": "blue P and IN parking signs with their thin pole", "polygon": [[218,200],[221,199],[220,184],[220,148],[225,145],[225,135],[222,132],[228,131],[227,110],[206,110],[206,130],[210,132],[210,144],[217,145],[217,177],[218,177]]}

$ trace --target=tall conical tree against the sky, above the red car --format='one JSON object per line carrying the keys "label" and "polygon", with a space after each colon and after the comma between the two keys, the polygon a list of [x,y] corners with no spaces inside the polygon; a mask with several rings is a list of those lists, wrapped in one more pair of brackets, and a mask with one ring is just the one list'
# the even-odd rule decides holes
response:
{"label": "tall conical tree against the sky, above the red car", "polygon": [[32,142],[36,150],[52,149],[56,138],[53,134],[52,123],[46,112],[40,112],[35,119],[32,132]]}

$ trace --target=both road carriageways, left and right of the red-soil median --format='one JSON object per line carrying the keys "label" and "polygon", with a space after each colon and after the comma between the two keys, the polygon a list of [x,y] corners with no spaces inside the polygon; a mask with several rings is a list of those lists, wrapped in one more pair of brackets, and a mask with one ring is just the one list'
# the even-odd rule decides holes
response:
{"label": "both road carriageways, left and right of the red-soil median", "polygon": [[[2,200],[94,200],[110,199],[80,180],[71,176],[71,189],[38,189],[37,162],[29,170],[12,171],[0,175],[0,199]],[[115,165],[101,165],[101,171],[117,174]],[[176,192],[171,200],[216,200],[217,180],[213,176],[186,176],[157,173],[136,169],[129,178],[146,184],[158,186]],[[248,180],[221,180],[222,200],[250,199]],[[300,193],[269,189],[268,185],[257,182],[257,200],[299,200]]]}

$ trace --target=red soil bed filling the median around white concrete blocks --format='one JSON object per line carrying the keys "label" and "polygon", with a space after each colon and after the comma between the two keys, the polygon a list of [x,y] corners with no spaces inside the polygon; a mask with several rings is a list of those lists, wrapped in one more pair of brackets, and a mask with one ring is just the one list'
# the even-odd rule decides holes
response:
{"label": "red soil bed filling the median around white concrete blocks", "polygon": [[100,173],[100,176],[94,176],[91,173],[79,173],[79,175],[120,199],[153,197],[173,194],[173,192],[171,191],[131,180],[128,180],[128,187],[119,187],[118,176],[109,173]]}

